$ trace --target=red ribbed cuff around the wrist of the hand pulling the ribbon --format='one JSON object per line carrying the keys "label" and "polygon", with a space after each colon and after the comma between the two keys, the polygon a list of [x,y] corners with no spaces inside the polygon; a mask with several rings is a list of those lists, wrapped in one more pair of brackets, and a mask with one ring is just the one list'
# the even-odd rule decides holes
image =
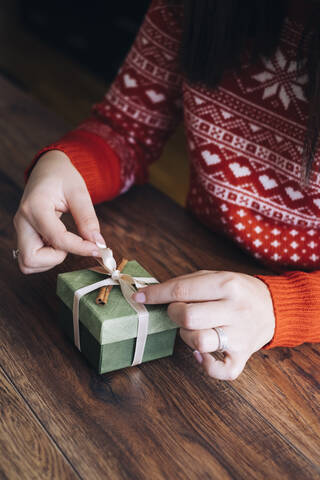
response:
{"label": "red ribbed cuff around the wrist of the hand pulling the ribbon", "polygon": [[118,156],[98,135],[77,129],[67,133],[59,142],[41,149],[25,170],[25,181],[41,155],[60,150],[83,177],[94,204],[110,200],[120,192],[120,162]]}

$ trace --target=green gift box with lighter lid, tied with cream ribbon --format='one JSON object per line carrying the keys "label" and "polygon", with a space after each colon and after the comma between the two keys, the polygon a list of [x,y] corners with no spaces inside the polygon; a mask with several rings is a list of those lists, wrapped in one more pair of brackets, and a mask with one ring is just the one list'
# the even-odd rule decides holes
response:
{"label": "green gift box with lighter lid, tied with cream ribbon", "polygon": [[[133,277],[152,277],[138,262],[130,261],[123,273]],[[58,275],[60,298],[59,323],[74,341],[73,300],[79,288],[99,282],[104,277],[91,270],[77,270]],[[97,305],[98,290],[84,295],[79,306],[81,352],[98,373],[111,372],[132,364],[138,331],[138,314],[113,286],[108,303]],[[146,305],[149,312],[148,336],[142,362],[172,355],[177,326],[170,320],[166,305]]]}

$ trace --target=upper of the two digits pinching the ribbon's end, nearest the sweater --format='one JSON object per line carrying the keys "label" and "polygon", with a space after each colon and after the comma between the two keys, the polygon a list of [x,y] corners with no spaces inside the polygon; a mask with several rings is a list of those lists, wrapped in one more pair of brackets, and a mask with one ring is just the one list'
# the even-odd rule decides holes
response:
{"label": "upper of the two digits pinching the ribbon's end, nearest the sweater", "polygon": [[91,197],[86,188],[70,192],[67,198],[70,212],[76,222],[80,235],[105,247],[106,243],[100,233],[100,226]]}

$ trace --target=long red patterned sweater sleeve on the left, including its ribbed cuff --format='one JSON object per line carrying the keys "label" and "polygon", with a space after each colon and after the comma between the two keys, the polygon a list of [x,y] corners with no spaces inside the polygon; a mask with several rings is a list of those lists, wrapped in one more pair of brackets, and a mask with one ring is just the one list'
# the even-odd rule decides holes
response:
{"label": "long red patterned sweater sleeve on the left, including its ribbed cuff", "polygon": [[182,6],[153,0],[115,80],[91,115],[36,154],[61,150],[84,178],[94,203],[148,179],[148,166],[181,120],[179,46]]}

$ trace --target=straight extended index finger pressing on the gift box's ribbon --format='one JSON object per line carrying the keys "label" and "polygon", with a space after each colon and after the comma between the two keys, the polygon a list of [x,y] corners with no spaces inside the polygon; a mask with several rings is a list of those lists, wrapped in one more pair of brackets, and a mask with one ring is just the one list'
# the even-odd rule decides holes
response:
{"label": "straight extended index finger pressing on the gift box's ribbon", "polygon": [[139,303],[197,302],[226,297],[224,286],[229,272],[209,272],[177,277],[139,289],[134,299]]}

